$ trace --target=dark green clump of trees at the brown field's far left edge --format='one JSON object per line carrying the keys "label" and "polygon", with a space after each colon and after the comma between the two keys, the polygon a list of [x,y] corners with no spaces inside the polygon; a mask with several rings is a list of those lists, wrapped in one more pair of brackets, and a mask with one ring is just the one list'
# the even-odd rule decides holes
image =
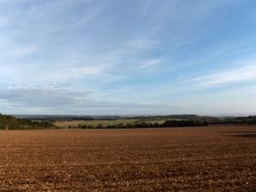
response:
{"label": "dark green clump of trees at the brown field's far left edge", "polygon": [[0,130],[47,129],[54,127],[49,121],[34,121],[31,119],[16,119],[11,115],[0,113]]}

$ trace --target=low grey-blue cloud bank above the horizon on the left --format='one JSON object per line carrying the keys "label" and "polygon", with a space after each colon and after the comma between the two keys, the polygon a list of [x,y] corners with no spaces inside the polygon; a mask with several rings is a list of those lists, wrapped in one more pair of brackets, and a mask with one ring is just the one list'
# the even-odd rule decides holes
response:
{"label": "low grey-blue cloud bank above the horizon on the left", "polygon": [[[0,105],[12,113],[51,113],[51,114],[139,114],[151,113],[150,108],[160,108],[152,103],[95,101],[88,91],[38,89],[38,88],[0,88]],[[44,109],[42,112],[42,108]],[[40,110],[38,110],[40,109]],[[124,110],[125,109],[125,110]],[[120,112],[122,110],[122,112]]]}

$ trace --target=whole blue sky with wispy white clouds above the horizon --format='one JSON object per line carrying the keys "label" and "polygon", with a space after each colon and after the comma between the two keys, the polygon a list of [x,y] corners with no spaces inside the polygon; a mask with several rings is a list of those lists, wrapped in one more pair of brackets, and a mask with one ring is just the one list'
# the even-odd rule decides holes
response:
{"label": "whole blue sky with wispy white clouds above the horizon", "polygon": [[0,113],[256,113],[254,0],[1,0]]}

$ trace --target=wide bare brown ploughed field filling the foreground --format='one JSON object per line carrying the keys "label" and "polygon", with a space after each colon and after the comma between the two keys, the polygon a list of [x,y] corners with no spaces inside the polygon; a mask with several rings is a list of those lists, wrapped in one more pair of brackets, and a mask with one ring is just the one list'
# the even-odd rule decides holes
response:
{"label": "wide bare brown ploughed field filling the foreground", "polygon": [[256,126],[0,131],[1,191],[255,191]]}

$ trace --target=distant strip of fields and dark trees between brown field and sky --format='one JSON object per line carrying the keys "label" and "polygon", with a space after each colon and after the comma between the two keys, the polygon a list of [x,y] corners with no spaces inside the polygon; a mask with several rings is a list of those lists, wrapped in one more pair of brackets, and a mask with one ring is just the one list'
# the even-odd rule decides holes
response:
{"label": "distant strip of fields and dark trees between brown field and sky", "polygon": [[11,129],[104,129],[150,128],[207,125],[256,125],[256,116],[211,117],[195,114],[166,116],[75,116],[75,115],[19,115],[0,114],[0,130]]}

